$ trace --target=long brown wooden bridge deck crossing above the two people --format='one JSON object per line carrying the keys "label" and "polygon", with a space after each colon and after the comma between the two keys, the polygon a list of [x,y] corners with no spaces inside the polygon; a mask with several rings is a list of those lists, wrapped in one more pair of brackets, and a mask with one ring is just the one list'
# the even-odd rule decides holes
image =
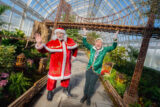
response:
{"label": "long brown wooden bridge deck crossing above the two people", "polygon": [[[54,22],[45,21],[47,27],[53,27]],[[114,25],[114,24],[103,24],[103,23],[78,23],[78,22],[57,22],[57,26],[65,29],[82,29],[83,27],[93,31],[103,32],[115,32],[119,30],[123,34],[143,34],[144,31],[149,30],[152,34],[160,35],[160,28],[146,28],[143,26],[130,26],[130,25]]]}

